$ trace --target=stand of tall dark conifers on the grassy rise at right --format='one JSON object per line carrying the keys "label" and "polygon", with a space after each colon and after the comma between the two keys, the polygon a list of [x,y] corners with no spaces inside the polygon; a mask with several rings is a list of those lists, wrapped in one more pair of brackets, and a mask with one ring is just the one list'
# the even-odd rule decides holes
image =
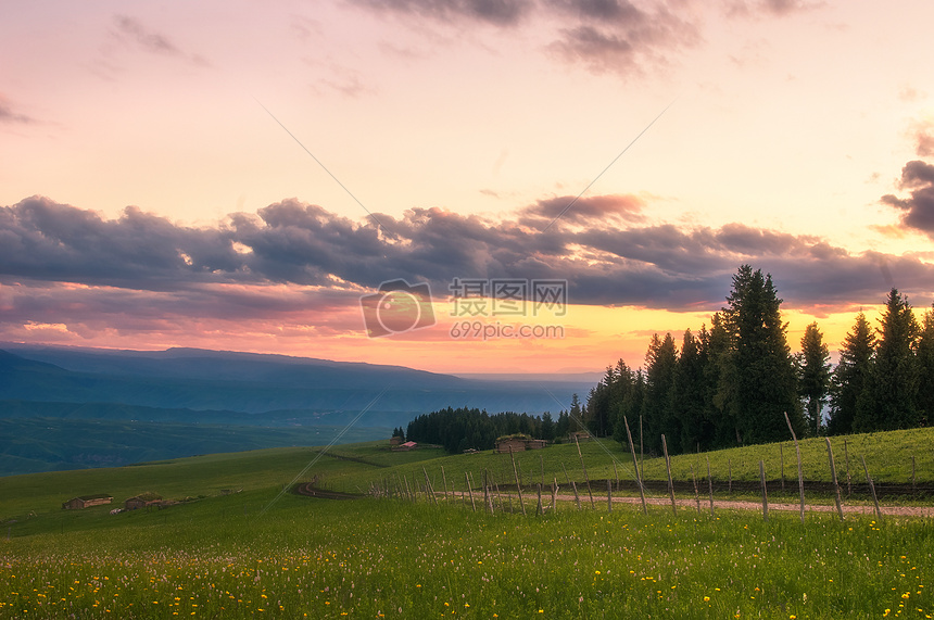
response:
{"label": "stand of tall dark conifers on the grassy rise at right", "polygon": [[800,353],[787,343],[770,275],[743,265],[710,327],[680,345],[655,334],[645,365],[620,359],[588,395],[582,420],[594,434],[627,442],[623,418],[644,425],[645,447],[670,453],[785,441],[787,413],[798,436],[924,426],[934,415],[934,309],[916,319],[889,291],[880,327],[859,313],[832,368],[818,324]]}

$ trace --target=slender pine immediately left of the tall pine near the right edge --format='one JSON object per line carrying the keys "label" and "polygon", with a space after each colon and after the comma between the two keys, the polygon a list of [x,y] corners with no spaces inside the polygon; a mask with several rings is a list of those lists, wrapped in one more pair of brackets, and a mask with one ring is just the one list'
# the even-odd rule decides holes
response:
{"label": "slender pine immediately left of the tall pine near the right edge", "polygon": [[857,403],[869,389],[874,351],[875,334],[866,315],[859,313],[843,341],[840,364],[833,371],[828,433],[848,434],[855,430]]}

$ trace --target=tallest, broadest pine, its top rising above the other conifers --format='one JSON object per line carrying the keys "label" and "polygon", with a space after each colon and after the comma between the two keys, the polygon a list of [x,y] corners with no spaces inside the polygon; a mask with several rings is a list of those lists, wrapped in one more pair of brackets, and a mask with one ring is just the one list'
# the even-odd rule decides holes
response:
{"label": "tallest, broadest pine, its top rising above the other conifers", "polygon": [[805,425],[797,397],[797,377],[785,337],[771,275],[749,265],[733,276],[733,290],[722,308],[723,327],[730,336],[730,355],[721,368],[722,403],[736,423],[741,443],[783,441],[788,436],[784,414],[796,433]]}

